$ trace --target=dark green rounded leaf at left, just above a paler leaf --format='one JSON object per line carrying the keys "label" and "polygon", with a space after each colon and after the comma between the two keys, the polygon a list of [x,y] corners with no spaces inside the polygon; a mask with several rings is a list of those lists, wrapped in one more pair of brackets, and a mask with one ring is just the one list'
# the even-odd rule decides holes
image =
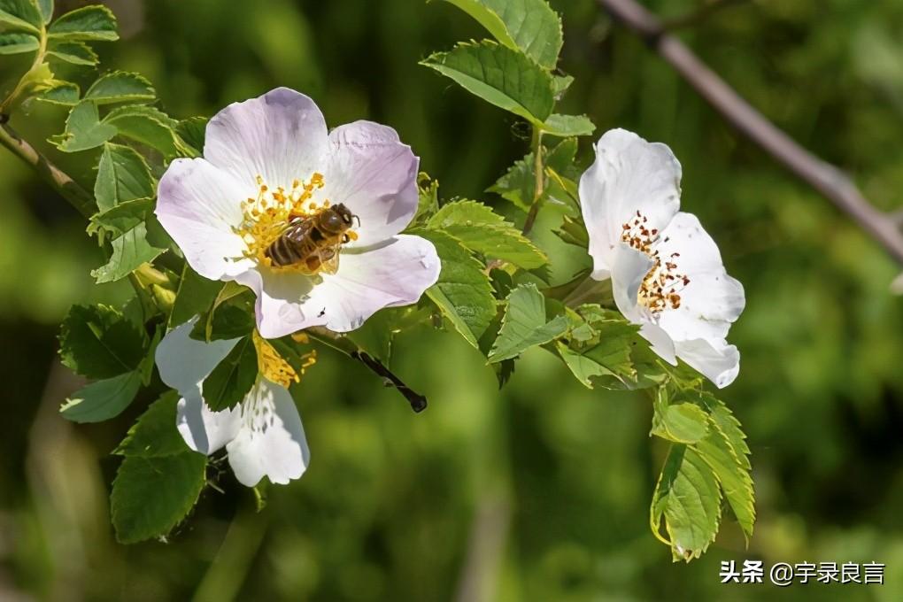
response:
{"label": "dark green rounded leaf at left, just above a paler leaf", "polygon": [[64,366],[88,378],[132,372],[144,357],[146,335],[106,305],[73,305],[60,332]]}

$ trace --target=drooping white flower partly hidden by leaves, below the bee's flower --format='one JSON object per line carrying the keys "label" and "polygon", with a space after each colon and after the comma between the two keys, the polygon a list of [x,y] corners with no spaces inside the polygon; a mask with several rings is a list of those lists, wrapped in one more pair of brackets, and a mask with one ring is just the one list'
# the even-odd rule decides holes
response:
{"label": "drooping white flower partly hidden by leaves, below the bee's flower", "polygon": [[286,370],[282,359],[270,353],[272,347],[255,338],[261,373],[256,384],[235,408],[212,412],[201,397],[201,383],[240,339],[195,340],[189,335],[197,320],[172,329],[155,355],[163,383],[182,395],[176,419],[182,439],[205,455],[225,447],[242,485],[256,486],[263,477],[281,485],[300,478],[310,451],[298,409],[285,388],[296,376],[291,367]]}

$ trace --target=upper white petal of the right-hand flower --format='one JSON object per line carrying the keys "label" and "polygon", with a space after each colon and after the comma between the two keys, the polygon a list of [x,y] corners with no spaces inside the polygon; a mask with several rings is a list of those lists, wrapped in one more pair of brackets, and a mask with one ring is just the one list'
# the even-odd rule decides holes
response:
{"label": "upper white petal of the right-hand flower", "polygon": [[610,130],[596,144],[596,161],[580,179],[583,221],[590,235],[593,277],[611,270],[622,226],[647,218],[649,230],[663,230],[680,208],[680,162],[666,144],[648,143],[626,130]]}

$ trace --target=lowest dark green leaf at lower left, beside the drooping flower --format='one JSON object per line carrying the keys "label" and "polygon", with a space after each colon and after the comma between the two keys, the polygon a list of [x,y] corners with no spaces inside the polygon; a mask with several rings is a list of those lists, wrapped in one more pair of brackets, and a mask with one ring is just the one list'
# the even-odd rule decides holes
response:
{"label": "lowest dark green leaf at lower left, beside the drooping flower", "polygon": [[135,543],[170,533],[197,503],[206,472],[207,457],[191,450],[159,458],[126,456],[110,496],[116,540]]}

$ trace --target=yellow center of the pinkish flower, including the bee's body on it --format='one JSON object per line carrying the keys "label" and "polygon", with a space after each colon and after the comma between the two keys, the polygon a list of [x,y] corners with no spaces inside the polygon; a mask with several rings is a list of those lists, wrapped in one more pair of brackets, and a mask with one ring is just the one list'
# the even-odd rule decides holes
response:
{"label": "yellow center of the pinkish flower, including the bee's body on it", "polygon": [[[348,228],[340,236],[323,232],[321,224],[331,218],[330,211],[347,211],[341,205],[331,208],[330,199],[313,199],[324,184],[322,174],[314,172],[310,181],[294,180],[290,190],[272,189],[258,175],[257,197],[241,202],[244,217],[233,228],[247,245],[244,256],[273,269],[306,274],[319,273],[326,259],[337,258],[338,247],[358,235]],[[310,259],[313,255],[316,260]]]}

